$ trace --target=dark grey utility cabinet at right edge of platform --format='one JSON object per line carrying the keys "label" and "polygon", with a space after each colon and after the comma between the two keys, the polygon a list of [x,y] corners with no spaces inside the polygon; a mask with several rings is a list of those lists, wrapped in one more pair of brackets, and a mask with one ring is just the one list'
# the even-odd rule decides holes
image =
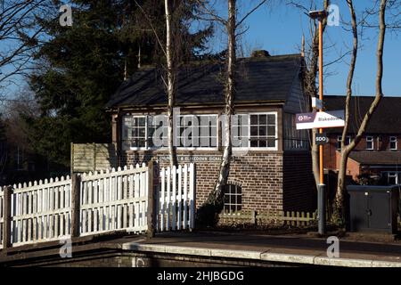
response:
{"label": "dark grey utility cabinet at right edge of platform", "polygon": [[397,232],[399,186],[349,185],[351,232]]}

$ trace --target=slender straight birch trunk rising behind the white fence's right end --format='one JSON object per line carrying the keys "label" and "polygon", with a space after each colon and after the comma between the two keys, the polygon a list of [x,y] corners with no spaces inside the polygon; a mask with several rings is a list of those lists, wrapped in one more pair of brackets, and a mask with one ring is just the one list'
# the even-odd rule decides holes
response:
{"label": "slender straight birch trunk rising behind the white fence's right end", "polygon": [[169,0],[164,1],[166,10],[166,61],[167,61],[167,93],[168,93],[168,156],[170,167],[176,166],[176,146],[174,145],[174,104],[176,92],[175,67],[173,61],[172,30],[171,30],[171,11]]}

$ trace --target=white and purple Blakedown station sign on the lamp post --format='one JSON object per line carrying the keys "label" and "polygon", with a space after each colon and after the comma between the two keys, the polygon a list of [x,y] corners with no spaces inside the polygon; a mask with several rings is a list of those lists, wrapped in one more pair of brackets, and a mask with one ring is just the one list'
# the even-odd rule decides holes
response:
{"label": "white and purple Blakedown station sign on the lamp post", "polygon": [[298,130],[345,125],[344,110],[301,113],[295,116],[295,120]]}

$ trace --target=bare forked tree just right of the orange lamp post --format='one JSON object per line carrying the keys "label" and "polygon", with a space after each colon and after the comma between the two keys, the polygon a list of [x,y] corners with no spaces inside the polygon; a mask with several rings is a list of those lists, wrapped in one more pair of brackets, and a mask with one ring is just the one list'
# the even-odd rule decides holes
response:
{"label": "bare forked tree just right of the orange lamp post", "polygon": [[352,96],[352,81],[354,77],[354,71],[356,67],[356,56],[357,56],[357,48],[358,48],[358,33],[357,33],[357,22],[356,22],[356,12],[354,9],[354,4],[352,0],[346,0],[349,8],[349,12],[351,14],[351,26],[352,26],[352,34],[354,39],[353,45],[353,53],[351,57],[351,62],[349,65],[348,71],[348,80],[347,80],[347,98],[345,103],[345,121],[346,124],[344,126],[342,132],[342,142],[341,142],[341,151],[340,151],[340,168],[339,168],[339,176],[338,176],[338,183],[337,183],[337,191],[336,197],[334,201],[334,212],[333,212],[333,219],[336,222],[344,221],[345,209],[344,209],[344,190],[345,190],[345,177],[346,177],[346,170],[347,170],[347,161],[348,156],[351,151],[353,151],[361,141],[364,132],[366,131],[366,127],[369,124],[370,119],[374,111],[377,109],[379,102],[381,102],[381,97],[383,97],[383,92],[381,88],[381,81],[383,77],[383,48],[384,48],[384,39],[386,35],[386,7],[387,7],[387,0],[381,0],[380,8],[379,8],[379,37],[377,43],[377,70],[376,70],[376,94],[374,100],[369,107],[369,110],[364,114],[364,118],[359,125],[355,138],[346,145],[344,142],[344,138],[348,133],[348,126],[349,126],[349,102]]}

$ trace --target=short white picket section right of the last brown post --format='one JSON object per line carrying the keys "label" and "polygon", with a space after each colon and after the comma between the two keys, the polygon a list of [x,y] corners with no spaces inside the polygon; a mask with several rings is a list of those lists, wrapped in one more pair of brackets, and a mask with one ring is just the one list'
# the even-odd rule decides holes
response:
{"label": "short white picket section right of the last brown post", "polygon": [[194,164],[161,168],[157,231],[193,229],[195,213]]}

